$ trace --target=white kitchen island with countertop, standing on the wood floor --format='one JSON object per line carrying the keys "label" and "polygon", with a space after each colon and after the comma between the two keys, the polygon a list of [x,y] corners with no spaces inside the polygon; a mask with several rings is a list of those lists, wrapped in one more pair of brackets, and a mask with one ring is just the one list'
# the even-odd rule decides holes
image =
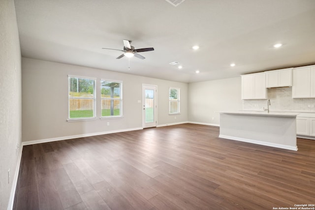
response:
{"label": "white kitchen island with countertop, standing on the wood floor", "polygon": [[297,150],[298,113],[220,112],[220,138]]}

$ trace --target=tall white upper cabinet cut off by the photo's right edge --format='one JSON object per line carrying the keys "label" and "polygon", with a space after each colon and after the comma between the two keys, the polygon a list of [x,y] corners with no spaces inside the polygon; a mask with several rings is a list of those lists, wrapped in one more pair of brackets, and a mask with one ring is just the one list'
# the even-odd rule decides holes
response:
{"label": "tall white upper cabinet cut off by the photo's right edge", "polygon": [[315,98],[315,66],[293,69],[292,98]]}

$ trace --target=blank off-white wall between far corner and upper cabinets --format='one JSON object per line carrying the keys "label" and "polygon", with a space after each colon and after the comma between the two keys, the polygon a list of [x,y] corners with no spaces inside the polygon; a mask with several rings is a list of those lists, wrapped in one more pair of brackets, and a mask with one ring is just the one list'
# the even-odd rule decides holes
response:
{"label": "blank off-white wall between far corner and upper cabinets", "polygon": [[242,110],[241,77],[189,83],[188,98],[189,121],[219,125],[217,112]]}

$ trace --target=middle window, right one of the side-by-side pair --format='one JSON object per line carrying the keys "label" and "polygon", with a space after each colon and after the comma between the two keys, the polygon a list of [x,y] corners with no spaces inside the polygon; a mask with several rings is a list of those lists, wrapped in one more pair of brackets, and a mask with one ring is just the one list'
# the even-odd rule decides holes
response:
{"label": "middle window, right one of the side-by-side pair", "polygon": [[100,81],[101,117],[122,117],[123,83],[121,81]]}

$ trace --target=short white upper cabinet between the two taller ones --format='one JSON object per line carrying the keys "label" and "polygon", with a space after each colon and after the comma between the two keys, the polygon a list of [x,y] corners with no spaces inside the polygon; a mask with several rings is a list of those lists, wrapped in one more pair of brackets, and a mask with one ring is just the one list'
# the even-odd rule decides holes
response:
{"label": "short white upper cabinet between the two taller ones", "polygon": [[292,86],[292,69],[284,68],[273,71],[265,71],[266,88],[279,88]]}

